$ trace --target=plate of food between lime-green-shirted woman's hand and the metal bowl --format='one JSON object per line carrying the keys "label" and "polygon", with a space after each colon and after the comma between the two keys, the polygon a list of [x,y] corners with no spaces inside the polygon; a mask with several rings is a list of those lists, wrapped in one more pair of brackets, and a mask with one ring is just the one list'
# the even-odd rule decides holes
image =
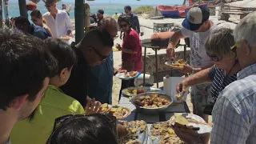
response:
{"label": "plate of food between lime-green-shirted woman's hand and the metal bowl", "polygon": [[117,119],[127,118],[131,114],[130,109],[126,107],[113,107],[107,103],[102,104],[101,109],[102,114],[113,114],[113,116]]}

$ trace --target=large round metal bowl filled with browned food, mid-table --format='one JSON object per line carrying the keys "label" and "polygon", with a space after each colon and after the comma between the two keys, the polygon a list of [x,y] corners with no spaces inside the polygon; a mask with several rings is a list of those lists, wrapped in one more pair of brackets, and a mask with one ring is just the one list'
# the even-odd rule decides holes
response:
{"label": "large round metal bowl filled with browned food, mid-table", "polygon": [[159,114],[165,112],[173,99],[162,93],[143,93],[131,99],[138,112],[145,114]]}

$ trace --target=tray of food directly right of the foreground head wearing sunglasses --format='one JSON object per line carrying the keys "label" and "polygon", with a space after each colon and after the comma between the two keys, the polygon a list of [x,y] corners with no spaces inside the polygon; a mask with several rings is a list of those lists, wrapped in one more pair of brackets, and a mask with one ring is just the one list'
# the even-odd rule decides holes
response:
{"label": "tray of food directly right of the foreground head wearing sunglasses", "polygon": [[119,144],[146,144],[148,139],[146,122],[137,120],[119,123],[128,131],[125,137],[118,139]]}

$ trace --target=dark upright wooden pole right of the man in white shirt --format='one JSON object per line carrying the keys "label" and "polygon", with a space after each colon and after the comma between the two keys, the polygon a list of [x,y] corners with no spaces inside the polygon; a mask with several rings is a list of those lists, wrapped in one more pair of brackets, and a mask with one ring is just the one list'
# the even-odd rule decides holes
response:
{"label": "dark upright wooden pole right of the man in white shirt", "polygon": [[75,0],[74,6],[74,22],[75,22],[75,42],[78,43],[84,36],[84,16],[85,16],[85,1]]}

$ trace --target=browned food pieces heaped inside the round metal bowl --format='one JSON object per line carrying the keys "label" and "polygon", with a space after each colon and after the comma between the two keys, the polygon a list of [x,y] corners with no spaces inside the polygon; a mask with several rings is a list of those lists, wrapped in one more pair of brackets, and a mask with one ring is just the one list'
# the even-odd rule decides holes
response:
{"label": "browned food pieces heaped inside the round metal bowl", "polygon": [[134,104],[144,108],[159,108],[170,105],[170,101],[168,101],[166,98],[160,98],[158,94],[152,94],[151,97],[146,95],[137,98],[134,101]]}

